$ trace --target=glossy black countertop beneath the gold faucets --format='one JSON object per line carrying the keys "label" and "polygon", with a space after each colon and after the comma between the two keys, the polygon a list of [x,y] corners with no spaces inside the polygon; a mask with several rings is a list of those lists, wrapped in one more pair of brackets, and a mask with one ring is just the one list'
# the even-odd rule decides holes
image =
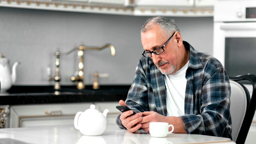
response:
{"label": "glossy black countertop beneath the gold faucets", "polygon": [[76,86],[62,86],[56,91],[53,86],[12,86],[7,93],[0,94],[0,105],[114,102],[125,100],[129,88],[130,85],[100,86],[94,90],[86,86],[78,90]]}

